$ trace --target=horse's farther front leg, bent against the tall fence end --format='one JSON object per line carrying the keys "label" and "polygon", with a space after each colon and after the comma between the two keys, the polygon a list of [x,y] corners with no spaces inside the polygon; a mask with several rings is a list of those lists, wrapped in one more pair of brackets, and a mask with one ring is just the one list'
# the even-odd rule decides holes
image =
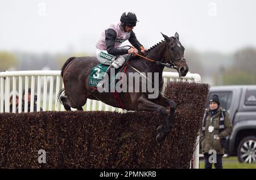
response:
{"label": "horse's farther front leg, bent against the tall fence end", "polygon": [[[161,93],[158,98],[156,98],[156,104],[162,105],[164,107],[170,106],[170,116],[168,118],[168,127],[171,129],[174,126],[174,113],[176,109],[176,102],[173,100],[168,99],[167,97],[164,97]],[[161,126],[158,128],[157,132],[162,131]]]}

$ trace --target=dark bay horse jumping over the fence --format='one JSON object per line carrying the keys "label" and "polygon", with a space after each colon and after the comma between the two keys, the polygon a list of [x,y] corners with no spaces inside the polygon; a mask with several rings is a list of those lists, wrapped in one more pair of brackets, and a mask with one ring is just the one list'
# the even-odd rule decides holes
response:
{"label": "dark bay horse jumping over the fence", "polygon": [[[162,34],[163,35],[163,34]],[[165,66],[177,70],[180,76],[185,76],[188,72],[188,66],[184,58],[184,47],[179,41],[178,33],[174,37],[163,35],[164,41],[159,42],[148,49],[143,55],[154,59],[155,62],[146,61],[142,57],[133,56],[130,58],[129,65],[125,74],[130,72],[153,72],[158,73],[159,94],[155,98],[148,98],[150,92],[121,92],[119,97],[122,100],[122,106],[117,98],[113,97],[111,92],[95,91],[95,88],[88,85],[88,80],[92,68],[99,64],[96,57],[71,57],[61,68],[64,89],[59,92],[58,98],[66,110],[76,108],[82,110],[87,98],[99,100],[105,104],[123,108],[126,110],[158,112],[163,119],[163,125],[157,129],[156,142],[161,143],[170,133],[174,122],[174,113],[176,103],[163,96],[162,72]],[[129,80],[128,80],[129,81]],[[138,84],[142,89],[142,84]],[[61,95],[62,93],[65,95]],[[170,106],[170,115],[166,107]]]}

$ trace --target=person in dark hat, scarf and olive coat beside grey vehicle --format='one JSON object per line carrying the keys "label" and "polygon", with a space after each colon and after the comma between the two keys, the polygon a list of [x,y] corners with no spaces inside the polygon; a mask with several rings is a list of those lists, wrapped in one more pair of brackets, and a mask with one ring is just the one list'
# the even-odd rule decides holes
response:
{"label": "person in dark hat, scarf and olive coat beside grey vehicle", "polygon": [[226,136],[232,133],[232,130],[233,126],[230,122],[229,113],[221,108],[218,95],[212,95],[209,101],[209,109],[205,109],[203,128],[200,132],[205,169],[212,169],[212,162],[209,159],[212,156],[211,152],[217,154],[216,159],[213,159],[215,168],[223,168],[222,156],[225,152],[225,140]]}

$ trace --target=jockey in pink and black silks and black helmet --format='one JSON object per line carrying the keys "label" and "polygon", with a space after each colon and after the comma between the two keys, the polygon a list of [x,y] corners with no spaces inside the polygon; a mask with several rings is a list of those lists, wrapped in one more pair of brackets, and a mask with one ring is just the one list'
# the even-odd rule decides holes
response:
{"label": "jockey in pink and black silks and black helmet", "polygon": [[[101,33],[101,37],[96,44],[96,57],[98,61],[105,65],[110,65],[104,78],[98,83],[98,88],[104,88],[106,77],[110,76],[110,68],[119,68],[125,63],[128,54],[144,53],[146,49],[139,43],[133,28],[137,23],[137,16],[133,12],[123,12],[120,22],[110,24],[110,26]],[[118,48],[122,42],[129,40],[134,48]],[[107,76],[108,75],[108,76]]]}

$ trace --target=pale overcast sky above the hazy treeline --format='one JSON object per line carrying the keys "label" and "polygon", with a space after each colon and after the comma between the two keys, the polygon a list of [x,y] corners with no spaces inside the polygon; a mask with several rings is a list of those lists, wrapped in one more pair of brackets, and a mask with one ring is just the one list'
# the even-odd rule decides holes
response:
{"label": "pale overcast sky above the hazy treeline", "polygon": [[95,54],[101,32],[133,11],[146,48],[163,40],[160,32],[178,32],[185,48],[232,53],[256,48],[255,7],[254,0],[0,0],[0,51]]}

